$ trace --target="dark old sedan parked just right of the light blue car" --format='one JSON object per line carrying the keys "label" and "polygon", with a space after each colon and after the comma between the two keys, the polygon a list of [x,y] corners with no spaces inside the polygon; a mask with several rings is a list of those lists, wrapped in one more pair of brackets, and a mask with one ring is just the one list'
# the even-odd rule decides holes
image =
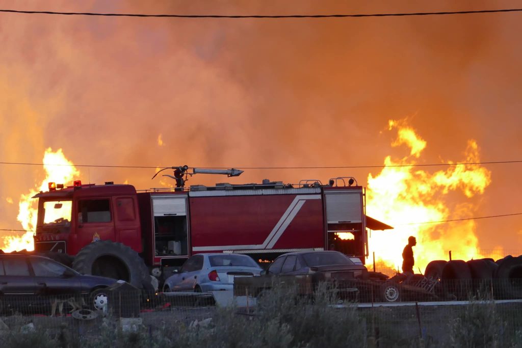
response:
{"label": "dark old sedan parked just right of the light blue car", "polygon": [[296,284],[301,294],[312,294],[320,282],[335,284],[340,295],[357,293],[354,286],[366,279],[368,271],[355,265],[338,251],[301,251],[279,256],[259,277],[240,278],[234,284],[236,295],[257,295],[275,284]]}

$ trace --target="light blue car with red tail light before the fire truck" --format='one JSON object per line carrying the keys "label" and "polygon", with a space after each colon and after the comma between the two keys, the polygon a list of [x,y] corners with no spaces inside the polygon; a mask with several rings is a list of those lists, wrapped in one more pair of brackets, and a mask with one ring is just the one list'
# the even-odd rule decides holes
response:
{"label": "light blue car with red tail light before the fire truck", "polygon": [[256,261],[246,255],[196,254],[165,281],[163,292],[233,290],[234,278],[252,277],[262,270]]}

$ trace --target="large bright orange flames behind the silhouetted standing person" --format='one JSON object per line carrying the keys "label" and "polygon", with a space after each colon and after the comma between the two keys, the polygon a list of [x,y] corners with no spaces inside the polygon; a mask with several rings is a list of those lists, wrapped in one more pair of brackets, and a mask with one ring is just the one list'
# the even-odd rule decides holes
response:
{"label": "large bright orange flames behind the silhouetted standing person", "polygon": [[[392,146],[407,145],[409,156],[400,160],[386,157],[384,164],[410,165],[426,147],[405,121],[389,121],[389,129],[397,129],[398,138]],[[478,162],[479,148],[468,141],[463,162]],[[448,162],[452,163],[452,162]],[[484,257],[478,248],[473,220],[445,224],[421,222],[469,218],[476,211],[469,198],[483,194],[491,183],[491,172],[477,164],[449,166],[433,174],[415,166],[385,167],[377,176],[370,174],[367,185],[367,213],[395,227],[394,230],[373,232],[369,241],[370,255],[375,252],[376,263],[397,270],[402,266],[402,249],[409,236],[417,238],[414,247],[415,268],[423,272],[432,260],[448,259],[449,250],[458,250],[459,258]],[[460,203],[448,199],[450,191],[462,191],[466,200]],[[416,224],[417,223],[417,224]],[[497,250],[500,253],[500,249]]]}

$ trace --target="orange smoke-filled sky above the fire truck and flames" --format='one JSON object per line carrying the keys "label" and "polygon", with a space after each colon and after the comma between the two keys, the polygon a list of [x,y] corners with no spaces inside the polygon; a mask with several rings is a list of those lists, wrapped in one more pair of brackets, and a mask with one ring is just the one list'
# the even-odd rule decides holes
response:
{"label": "orange smoke-filled sky above the fire truck and flames", "polygon": [[[244,15],[519,7],[515,1],[0,4]],[[41,162],[50,147],[75,164],[378,165],[388,155],[410,155],[405,146],[392,147],[397,133],[388,129],[390,119],[407,119],[426,141],[419,164],[465,160],[471,139],[481,160],[520,160],[521,19],[519,13],[286,20],[2,13],[0,161]],[[483,194],[456,191],[445,199],[471,202],[475,216],[521,212],[521,166],[489,165],[491,184]],[[150,180],[152,169],[78,170],[84,182],[160,186]],[[350,175],[366,186],[369,174],[379,172],[248,170],[239,178],[194,177],[188,184]],[[0,165],[0,228],[21,227],[20,195],[44,176],[41,167]],[[521,222],[477,221],[479,246],[520,250]]]}

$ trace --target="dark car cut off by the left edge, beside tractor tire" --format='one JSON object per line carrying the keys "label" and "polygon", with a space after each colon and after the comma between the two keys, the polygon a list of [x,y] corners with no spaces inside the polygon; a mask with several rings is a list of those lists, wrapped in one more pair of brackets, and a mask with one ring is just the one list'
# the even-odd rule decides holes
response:
{"label": "dark car cut off by the left edge, beside tractor tire", "polygon": [[[32,310],[63,299],[104,309],[106,287],[114,279],[82,275],[52,259],[33,255],[0,255],[0,301],[4,309]],[[69,301],[71,302],[71,301]]]}

